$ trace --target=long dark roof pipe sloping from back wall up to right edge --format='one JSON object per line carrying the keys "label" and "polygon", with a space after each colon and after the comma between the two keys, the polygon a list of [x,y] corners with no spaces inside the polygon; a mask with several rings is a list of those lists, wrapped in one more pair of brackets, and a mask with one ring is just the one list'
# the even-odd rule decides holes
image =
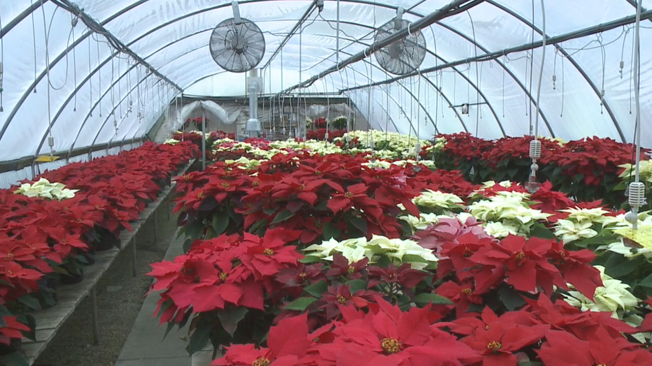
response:
{"label": "long dark roof pipe sloping from back wall up to right edge", "polygon": [[[613,22],[599,24],[599,25],[597,25],[595,27],[588,27],[588,28],[585,28],[585,29],[581,29],[579,31],[573,31],[573,32],[570,32],[570,33],[567,33],[567,34],[562,34],[560,36],[549,37],[547,39],[547,42],[548,42],[548,45],[553,45],[555,43],[570,41],[570,40],[575,39],[575,38],[590,36],[592,34],[597,34],[597,33],[600,33],[602,31],[609,31],[610,29],[618,28],[618,27],[621,27],[623,25],[632,24],[635,21],[635,18],[636,18],[635,16],[623,17],[623,18],[621,18],[619,20],[614,20]],[[652,19],[652,10],[648,10],[645,13],[642,13],[641,19]],[[453,66],[460,66],[460,65],[463,65],[463,64],[468,64],[469,62],[490,61],[492,59],[497,59],[498,57],[502,57],[502,56],[504,56],[506,54],[510,54],[510,53],[514,53],[514,52],[523,52],[523,51],[527,51],[527,50],[532,50],[532,49],[537,48],[537,47],[541,47],[542,42],[543,41],[537,41],[537,42],[534,42],[534,43],[527,43],[526,45],[511,47],[511,48],[507,48],[506,50],[502,50],[502,51],[496,51],[496,52],[490,52],[490,53],[487,53],[487,54],[482,54],[482,55],[480,55],[478,57],[469,57],[467,59],[462,59],[462,60],[458,60],[458,61],[451,61],[451,62],[448,62],[448,64],[442,64],[442,65],[439,65],[439,66],[424,68],[420,72],[421,73],[432,73],[434,71],[442,70],[444,68],[451,68]],[[398,76],[396,78],[391,78],[391,79],[387,79],[387,80],[383,80],[383,81],[379,81],[379,82],[373,82],[373,83],[371,83],[369,85],[361,85],[361,86],[358,86],[358,87],[351,87],[351,88],[342,89],[340,92],[348,92],[350,90],[355,90],[355,89],[363,89],[363,88],[367,88],[367,87],[375,87],[375,86],[378,86],[378,85],[385,85],[385,84],[388,84],[390,82],[395,82],[397,80],[402,80],[404,78],[409,78],[409,77],[417,75],[417,74],[418,74],[417,72],[412,72],[412,73],[409,73],[409,74],[406,74],[406,75]]]}

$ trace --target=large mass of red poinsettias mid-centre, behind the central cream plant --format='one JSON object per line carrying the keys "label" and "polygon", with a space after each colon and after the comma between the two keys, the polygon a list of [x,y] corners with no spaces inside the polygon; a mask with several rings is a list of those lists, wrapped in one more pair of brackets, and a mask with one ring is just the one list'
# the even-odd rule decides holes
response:
{"label": "large mass of red poinsettias mid-centre, behind the central cream plant", "polygon": [[[199,223],[203,234],[208,232],[202,222],[213,222],[218,212],[233,211],[243,215],[243,221],[231,233],[282,224],[303,230],[304,243],[313,242],[324,230],[335,237],[399,237],[398,203],[418,216],[411,199],[423,189],[468,194],[474,188],[458,173],[411,165],[372,169],[362,165],[365,161],[359,156],[290,152],[263,162],[255,176],[238,166],[215,163],[205,172],[183,177],[179,187],[187,193],[175,210],[182,212],[180,224]],[[233,215],[227,221],[236,223]]]}

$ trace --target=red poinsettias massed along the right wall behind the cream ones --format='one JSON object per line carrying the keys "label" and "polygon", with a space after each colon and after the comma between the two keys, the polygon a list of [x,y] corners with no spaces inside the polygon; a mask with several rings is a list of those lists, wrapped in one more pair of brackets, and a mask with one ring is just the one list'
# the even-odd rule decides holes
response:
{"label": "red poinsettias massed along the right wall behind the cream ones", "polygon": [[[437,166],[459,169],[469,180],[514,180],[525,182],[530,175],[530,140],[532,137],[501,138],[495,141],[474,138],[468,133],[441,135],[446,145],[435,152]],[[632,163],[634,146],[609,138],[586,138],[560,146],[542,139],[538,177],[580,201],[604,199],[609,205],[620,205],[625,199],[613,193],[618,184],[618,166]],[[469,148],[471,147],[471,148]],[[649,159],[645,149],[642,159]],[[474,168],[475,175],[471,175]]]}

